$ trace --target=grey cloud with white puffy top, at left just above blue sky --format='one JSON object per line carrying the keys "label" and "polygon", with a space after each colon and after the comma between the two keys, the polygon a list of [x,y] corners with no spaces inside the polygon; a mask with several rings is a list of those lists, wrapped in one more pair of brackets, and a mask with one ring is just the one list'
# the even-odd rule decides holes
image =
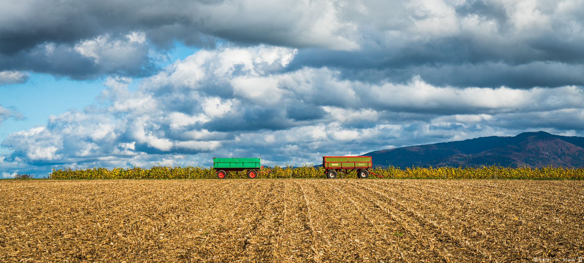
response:
{"label": "grey cloud with white puffy top, at left just above blue sky", "polygon": [[46,72],[72,79],[102,75],[146,76],[157,71],[143,33],[103,34],[74,45],[43,43],[12,55],[0,54],[0,68]]}

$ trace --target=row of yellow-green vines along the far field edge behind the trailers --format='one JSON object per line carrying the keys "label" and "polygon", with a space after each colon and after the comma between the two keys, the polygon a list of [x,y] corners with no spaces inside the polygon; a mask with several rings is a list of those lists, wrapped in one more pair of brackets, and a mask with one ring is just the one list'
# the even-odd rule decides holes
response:
{"label": "row of yellow-green vines along the far field edge behind the trailers", "polygon": [[[388,167],[381,169],[376,167],[371,169],[376,174],[384,178],[450,178],[450,179],[509,179],[509,178],[563,178],[582,179],[584,169],[582,168],[562,168],[562,167],[411,167],[397,169]],[[246,171],[230,172],[227,178],[246,178]],[[340,178],[357,178],[356,172],[349,174],[339,173]],[[217,178],[212,167],[193,166],[153,166],[150,169],[141,167],[130,167],[127,169],[116,167],[106,169],[94,167],[88,169],[58,169],[50,174],[49,178],[54,179],[154,179],[154,178]],[[258,178],[326,178],[325,170],[322,167],[303,165],[301,167],[267,167],[259,170]]]}

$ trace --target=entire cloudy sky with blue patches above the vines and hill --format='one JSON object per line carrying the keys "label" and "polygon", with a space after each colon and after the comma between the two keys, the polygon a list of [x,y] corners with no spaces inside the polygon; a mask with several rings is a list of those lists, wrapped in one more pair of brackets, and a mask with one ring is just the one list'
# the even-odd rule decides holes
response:
{"label": "entire cloudy sky with blue patches above the vines and hill", "polygon": [[584,136],[584,0],[2,1],[0,178]]}

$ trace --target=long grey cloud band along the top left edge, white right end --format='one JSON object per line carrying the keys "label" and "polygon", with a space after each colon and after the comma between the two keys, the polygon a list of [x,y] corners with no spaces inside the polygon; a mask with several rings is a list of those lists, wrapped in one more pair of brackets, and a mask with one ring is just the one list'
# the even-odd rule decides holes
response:
{"label": "long grey cloud band along the top left edge, white right end", "polygon": [[[109,32],[142,29],[159,45],[173,39],[201,43],[201,35],[231,41],[354,48],[350,21],[333,1],[120,1],[38,0],[6,5],[0,52],[11,54],[46,42],[75,42]],[[271,22],[271,23],[270,23]],[[12,39],[12,41],[8,41]],[[274,43],[276,44],[276,43]]]}

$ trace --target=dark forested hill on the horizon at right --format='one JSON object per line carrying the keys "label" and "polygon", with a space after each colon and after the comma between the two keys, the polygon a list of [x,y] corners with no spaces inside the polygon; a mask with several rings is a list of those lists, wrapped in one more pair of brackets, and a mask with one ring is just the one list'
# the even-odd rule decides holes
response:
{"label": "dark forested hill on the horizon at right", "polygon": [[375,166],[584,167],[584,137],[523,132],[514,137],[489,136],[456,142],[376,150]]}

